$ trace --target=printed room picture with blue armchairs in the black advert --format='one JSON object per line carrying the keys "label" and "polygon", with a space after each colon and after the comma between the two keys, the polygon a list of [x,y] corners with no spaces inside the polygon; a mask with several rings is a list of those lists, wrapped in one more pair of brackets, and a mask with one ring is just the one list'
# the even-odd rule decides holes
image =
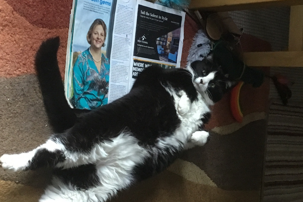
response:
{"label": "printed room picture with blue armchairs in the black advert", "polygon": [[175,29],[156,39],[159,60],[177,63],[181,29]]}

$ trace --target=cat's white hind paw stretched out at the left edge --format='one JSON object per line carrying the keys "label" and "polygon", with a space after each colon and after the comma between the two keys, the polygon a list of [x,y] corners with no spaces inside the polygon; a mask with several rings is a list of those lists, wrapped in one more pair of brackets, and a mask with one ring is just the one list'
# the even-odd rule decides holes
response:
{"label": "cat's white hind paw stretched out at the left edge", "polygon": [[0,167],[10,173],[23,171],[28,166],[29,162],[28,153],[4,154],[0,157]]}

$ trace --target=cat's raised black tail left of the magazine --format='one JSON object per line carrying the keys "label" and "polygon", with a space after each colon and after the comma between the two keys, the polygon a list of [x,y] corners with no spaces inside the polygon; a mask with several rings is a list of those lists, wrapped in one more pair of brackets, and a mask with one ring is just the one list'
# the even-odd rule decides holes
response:
{"label": "cat's raised black tail left of the magazine", "polygon": [[43,41],[36,53],[35,68],[42,91],[44,106],[54,132],[63,132],[76,121],[75,111],[70,108],[64,94],[57,51],[60,38]]}

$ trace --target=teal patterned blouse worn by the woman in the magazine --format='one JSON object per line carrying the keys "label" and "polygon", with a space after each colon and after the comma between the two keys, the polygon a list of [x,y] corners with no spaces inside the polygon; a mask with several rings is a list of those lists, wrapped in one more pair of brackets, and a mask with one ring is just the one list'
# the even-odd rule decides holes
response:
{"label": "teal patterned blouse worn by the woman in the magazine", "polygon": [[101,57],[99,72],[88,49],[78,56],[73,68],[72,101],[75,108],[95,109],[107,104],[110,65],[103,53]]}

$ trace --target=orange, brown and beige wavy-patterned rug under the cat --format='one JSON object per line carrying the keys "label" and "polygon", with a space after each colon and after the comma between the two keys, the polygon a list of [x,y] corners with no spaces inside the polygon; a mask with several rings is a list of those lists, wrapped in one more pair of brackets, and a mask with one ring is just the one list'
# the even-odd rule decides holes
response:
{"label": "orange, brown and beige wavy-patterned rug under the cat", "polygon": [[[43,40],[60,36],[58,60],[64,75],[71,4],[72,0],[0,0],[0,155],[29,151],[52,133],[33,59]],[[186,18],[183,66],[197,29]],[[244,35],[241,43],[247,51],[270,50],[269,43],[251,35]],[[213,107],[208,144],[186,151],[165,172],[121,192],[112,201],[259,201],[268,93],[268,80],[260,88],[242,87],[243,123],[232,118],[226,94]],[[0,201],[38,201],[50,177],[48,169],[16,174],[1,170]]]}

